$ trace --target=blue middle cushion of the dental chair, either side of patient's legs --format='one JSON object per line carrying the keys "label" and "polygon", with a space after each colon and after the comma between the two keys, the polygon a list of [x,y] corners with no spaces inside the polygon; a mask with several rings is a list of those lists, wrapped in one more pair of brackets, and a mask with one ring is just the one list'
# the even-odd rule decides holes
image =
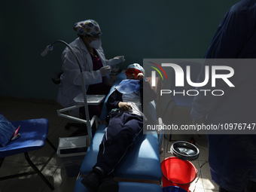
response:
{"label": "blue middle cushion of the dental chair, either side of patient's legs", "polygon": [[[96,130],[84,161],[81,165],[81,174],[87,175],[96,164],[99,145],[105,134],[107,124],[101,124]],[[144,134],[136,145],[130,148],[123,160],[117,166],[116,177],[136,178],[160,181],[162,171],[160,167],[160,156],[157,134]]]}

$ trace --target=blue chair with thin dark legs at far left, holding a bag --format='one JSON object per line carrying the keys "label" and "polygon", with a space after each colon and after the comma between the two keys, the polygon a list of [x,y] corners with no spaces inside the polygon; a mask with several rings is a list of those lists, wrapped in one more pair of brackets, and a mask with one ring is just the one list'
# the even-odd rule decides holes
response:
{"label": "blue chair with thin dark legs at far left, holding a bag", "polygon": [[44,146],[44,142],[47,141],[50,146],[56,151],[54,145],[47,139],[49,121],[47,119],[31,119],[31,120],[20,120],[20,121],[11,121],[9,120],[14,127],[20,126],[20,138],[11,141],[5,147],[0,147],[0,168],[2,166],[5,157],[24,153],[27,162],[34,169],[33,172],[23,172],[16,175],[8,175],[1,177],[0,181],[17,178],[23,175],[31,175],[37,173],[44,182],[50,187],[51,190],[54,190],[54,187],[50,182],[45,178],[45,176],[40,172],[40,170],[35,166],[34,163],[29,158],[29,151],[38,150]]}

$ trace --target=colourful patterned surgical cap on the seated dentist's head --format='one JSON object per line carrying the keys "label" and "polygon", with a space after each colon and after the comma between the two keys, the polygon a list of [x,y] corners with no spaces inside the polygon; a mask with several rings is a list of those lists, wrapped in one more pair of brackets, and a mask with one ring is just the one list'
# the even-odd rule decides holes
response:
{"label": "colourful patterned surgical cap on the seated dentist's head", "polygon": [[[76,32],[78,32],[78,35],[93,35],[93,36],[102,35],[102,32],[99,28],[99,24],[95,20],[84,20],[84,21],[75,23],[74,29]],[[95,34],[99,34],[99,35],[95,35]]]}

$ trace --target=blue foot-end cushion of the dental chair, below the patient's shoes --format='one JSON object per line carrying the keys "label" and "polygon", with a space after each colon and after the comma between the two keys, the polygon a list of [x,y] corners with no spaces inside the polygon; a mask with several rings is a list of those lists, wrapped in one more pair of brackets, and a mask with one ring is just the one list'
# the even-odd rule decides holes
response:
{"label": "blue foot-end cushion of the dental chair, below the patient's shoes", "polygon": [[[78,179],[75,183],[74,192],[89,192],[83,184],[81,184],[81,179]],[[147,192],[162,192],[162,187],[157,184],[148,183],[134,183],[134,182],[118,182],[119,192],[130,192],[130,191],[147,191]]]}

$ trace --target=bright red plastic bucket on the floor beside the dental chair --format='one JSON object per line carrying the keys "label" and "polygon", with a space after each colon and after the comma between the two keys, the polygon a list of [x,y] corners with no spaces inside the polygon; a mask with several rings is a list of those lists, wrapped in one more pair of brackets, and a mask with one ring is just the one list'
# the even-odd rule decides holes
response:
{"label": "bright red plastic bucket on the floor beside the dental chair", "polygon": [[197,178],[197,169],[189,161],[168,157],[161,163],[163,187],[178,186],[188,191],[190,183]]}

